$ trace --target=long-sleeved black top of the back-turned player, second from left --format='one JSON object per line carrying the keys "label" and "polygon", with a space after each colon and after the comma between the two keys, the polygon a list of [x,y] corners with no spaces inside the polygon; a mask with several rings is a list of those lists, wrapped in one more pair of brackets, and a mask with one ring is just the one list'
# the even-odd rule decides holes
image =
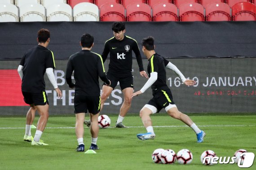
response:
{"label": "long-sleeved black top of the back-turned player, second from left", "polygon": [[66,67],[66,83],[74,87],[71,75],[74,71],[75,95],[100,96],[99,76],[110,84],[106,77],[101,55],[90,50],[81,50],[71,55]]}

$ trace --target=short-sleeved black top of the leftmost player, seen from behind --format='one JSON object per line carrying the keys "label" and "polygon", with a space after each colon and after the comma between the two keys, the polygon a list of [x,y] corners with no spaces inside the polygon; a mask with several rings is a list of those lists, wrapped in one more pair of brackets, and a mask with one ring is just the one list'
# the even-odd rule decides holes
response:
{"label": "short-sleeved black top of the leftmost player, seen from behind", "polygon": [[55,68],[53,52],[37,45],[29,49],[22,57],[22,91],[41,93],[45,91],[44,73],[47,68]]}

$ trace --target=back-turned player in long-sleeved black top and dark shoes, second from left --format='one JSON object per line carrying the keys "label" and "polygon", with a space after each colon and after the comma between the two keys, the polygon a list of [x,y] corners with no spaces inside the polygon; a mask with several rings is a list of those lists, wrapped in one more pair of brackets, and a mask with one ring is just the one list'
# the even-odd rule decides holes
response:
{"label": "back-turned player in long-sleeved black top and dark shoes, second from left", "polygon": [[[84,151],[84,116],[90,113],[92,142],[89,149],[98,149],[98,116],[101,108],[101,96],[99,77],[106,85],[110,85],[107,79],[101,55],[91,52],[93,48],[93,36],[84,34],[81,37],[82,50],[71,55],[66,67],[66,83],[69,87],[75,87],[75,134],[78,141],[76,151]],[[74,71],[75,83],[72,83],[71,75]]]}

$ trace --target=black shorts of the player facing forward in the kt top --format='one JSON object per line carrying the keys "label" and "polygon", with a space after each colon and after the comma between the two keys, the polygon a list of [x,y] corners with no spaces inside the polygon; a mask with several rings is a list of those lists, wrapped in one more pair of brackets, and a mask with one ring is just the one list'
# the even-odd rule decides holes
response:
{"label": "black shorts of the player facing forward in the kt top", "polygon": [[[107,72],[106,76],[111,81],[110,87],[113,89],[115,89],[118,82],[120,83],[121,90],[124,90],[127,87],[133,88],[132,74],[121,76],[113,72]],[[103,85],[106,85],[106,83],[104,82]]]}

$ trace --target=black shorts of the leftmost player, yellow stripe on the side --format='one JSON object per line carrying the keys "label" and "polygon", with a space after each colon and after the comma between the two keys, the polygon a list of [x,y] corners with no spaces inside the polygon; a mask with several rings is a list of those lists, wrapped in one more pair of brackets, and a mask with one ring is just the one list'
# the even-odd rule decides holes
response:
{"label": "black shorts of the leftmost player, yellow stripe on the side", "polygon": [[28,105],[49,105],[48,97],[45,91],[41,93],[22,92],[22,95],[24,96],[25,103]]}

